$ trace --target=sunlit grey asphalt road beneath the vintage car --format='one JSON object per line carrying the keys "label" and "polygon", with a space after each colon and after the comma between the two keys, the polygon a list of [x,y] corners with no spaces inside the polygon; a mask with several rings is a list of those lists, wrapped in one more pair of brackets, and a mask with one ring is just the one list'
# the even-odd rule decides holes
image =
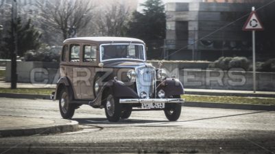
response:
{"label": "sunlit grey asphalt road beneath the vintage car", "polygon": [[[61,118],[57,101],[0,98],[0,114]],[[133,112],[109,123],[83,105],[81,131],[0,138],[0,153],[275,153],[275,112],[183,107],[176,122],[163,111]]]}

